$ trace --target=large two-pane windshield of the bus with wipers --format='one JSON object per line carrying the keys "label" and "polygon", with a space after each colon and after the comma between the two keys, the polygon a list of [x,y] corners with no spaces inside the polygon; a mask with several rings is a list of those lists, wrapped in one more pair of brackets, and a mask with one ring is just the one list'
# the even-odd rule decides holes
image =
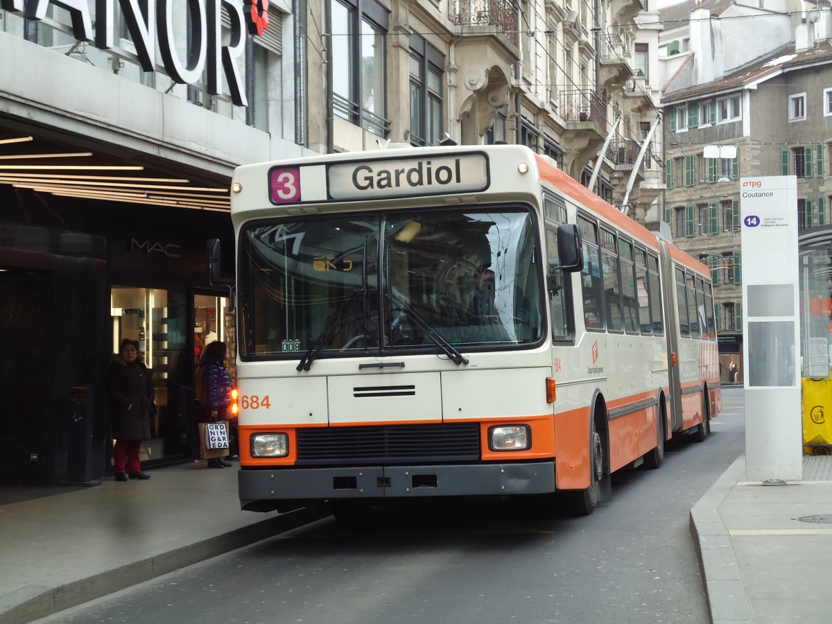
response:
{"label": "large two-pane windshield of the bus with wipers", "polygon": [[540,257],[522,206],[254,221],[240,233],[240,355],[308,369],[443,352],[459,364],[458,349],[534,344]]}

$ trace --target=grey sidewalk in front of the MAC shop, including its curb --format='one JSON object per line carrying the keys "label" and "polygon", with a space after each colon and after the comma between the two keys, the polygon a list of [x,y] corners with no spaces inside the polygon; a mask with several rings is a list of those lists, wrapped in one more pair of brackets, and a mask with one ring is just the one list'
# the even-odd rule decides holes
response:
{"label": "grey sidewalk in front of the MAC shop, including its curb", "polygon": [[236,463],[148,474],[0,506],[0,623],[32,622],[320,517],[240,511]]}

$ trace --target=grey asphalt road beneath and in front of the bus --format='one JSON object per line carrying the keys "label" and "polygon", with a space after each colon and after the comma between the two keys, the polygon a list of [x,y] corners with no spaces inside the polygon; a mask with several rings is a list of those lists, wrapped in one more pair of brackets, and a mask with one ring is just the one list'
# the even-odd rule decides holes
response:
{"label": "grey asphalt road beneath and in front of the bus", "polygon": [[705,443],[621,473],[591,517],[503,503],[327,518],[43,622],[707,622],[688,522],[744,448],[731,392]]}

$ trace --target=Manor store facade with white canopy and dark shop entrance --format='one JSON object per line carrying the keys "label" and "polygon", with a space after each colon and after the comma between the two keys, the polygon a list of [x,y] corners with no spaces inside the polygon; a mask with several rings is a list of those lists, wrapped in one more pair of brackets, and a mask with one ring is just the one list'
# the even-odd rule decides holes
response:
{"label": "Manor store facade with white canopy and dark shop entrance", "polygon": [[233,345],[230,263],[227,285],[206,279],[206,240],[233,255],[231,173],[310,153],[292,10],[270,2],[258,35],[237,0],[2,0],[0,483],[110,471],[106,371],[123,338],[156,384],[143,463],[194,455],[195,349]]}

